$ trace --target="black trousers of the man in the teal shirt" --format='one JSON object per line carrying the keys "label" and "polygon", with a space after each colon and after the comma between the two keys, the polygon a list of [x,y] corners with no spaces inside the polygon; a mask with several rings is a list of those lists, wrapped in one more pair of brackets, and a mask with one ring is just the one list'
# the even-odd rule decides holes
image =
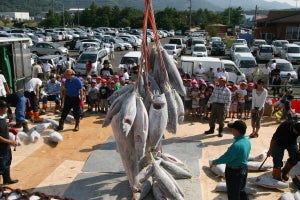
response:
{"label": "black trousers of the man in the teal shirt", "polygon": [[245,192],[247,176],[247,165],[238,169],[226,166],[225,178],[228,200],[248,200],[248,195]]}

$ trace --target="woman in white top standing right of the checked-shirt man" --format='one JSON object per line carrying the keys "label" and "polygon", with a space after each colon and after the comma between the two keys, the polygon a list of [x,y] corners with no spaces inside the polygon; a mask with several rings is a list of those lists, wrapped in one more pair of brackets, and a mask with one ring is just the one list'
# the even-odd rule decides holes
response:
{"label": "woman in white top standing right of the checked-shirt man", "polygon": [[264,105],[266,98],[268,96],[268,91],[264,88],[264,81],[259,79],[252,92],[252,115],[251,115],[251,125],[252,133],[250,138],[257,138],[258,131],[260,128],[261,117],[264,113]]}

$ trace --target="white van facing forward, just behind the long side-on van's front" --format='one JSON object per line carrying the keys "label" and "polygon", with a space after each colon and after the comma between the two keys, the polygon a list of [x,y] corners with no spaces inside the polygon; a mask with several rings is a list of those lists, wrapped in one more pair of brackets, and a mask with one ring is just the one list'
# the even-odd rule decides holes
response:
{"label": "white van facing forward, just behind the long side-on van's front", "polygon": [[256,66],[256,60],[252,55],[236,54],[235,63],[246,75],[248,81],[252,81],[252,74]]}

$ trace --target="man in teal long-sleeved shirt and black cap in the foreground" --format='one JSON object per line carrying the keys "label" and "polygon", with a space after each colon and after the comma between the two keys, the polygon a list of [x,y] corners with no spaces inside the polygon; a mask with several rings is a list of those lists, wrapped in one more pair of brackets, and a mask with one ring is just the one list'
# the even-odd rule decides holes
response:
{"label": "man in teal long-sleeved shirt and black cap in the foreground", "polygon": [[234,136],[233,144],[218,159],[210,163],[210,167],[226,164],[225,179],[228,200],[247,200],[245,186],[248,176],[247,162],[251,150],[251,143],[245,136],[247,125],[242,120],[228,124]]}

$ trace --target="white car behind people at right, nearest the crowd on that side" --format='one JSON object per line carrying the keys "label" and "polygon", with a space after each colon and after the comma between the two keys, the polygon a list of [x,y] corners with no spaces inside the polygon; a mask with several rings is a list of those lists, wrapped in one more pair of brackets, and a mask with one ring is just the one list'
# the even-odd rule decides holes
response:
{"label": "white car behind people at right, nearest the crowd on that side", "polygon": [[267,65],[270,67],[274,60],[276,61],[276,67],[279,66],[281,79],[286,79],[287,74],[290,73],[293,82],[298,80],[297,72],[295,71],[291,62],[281,58],[273,58],[268,62]]}

